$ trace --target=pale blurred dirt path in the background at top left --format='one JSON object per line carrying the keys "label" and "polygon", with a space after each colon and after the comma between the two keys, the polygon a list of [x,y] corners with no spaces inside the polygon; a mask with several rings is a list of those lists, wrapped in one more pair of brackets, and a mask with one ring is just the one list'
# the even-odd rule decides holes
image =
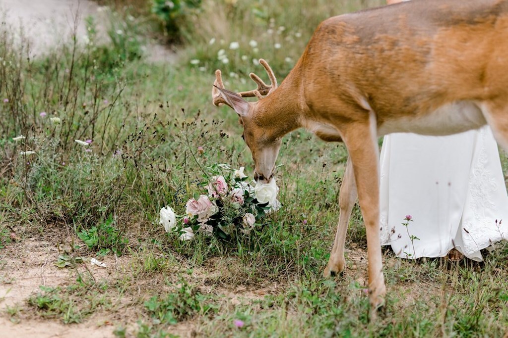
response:
{"label": "pale blurred dirt path in the background at top left", "polygon": [[[78,42],[86,36],[84,19],[92,16],[98,24],[98,36],[107,41],[108,8],[89,0],[0,0],[0,18],[15,32],[16,41],[21,36],[30,43],[31,56],[39,56],[44,51],[69,38],[76,26]],[[20,29],[22,27],[22,29]],[[148,41],[147,60],[150,62],[170,62],[176,55],[167,47]]]}

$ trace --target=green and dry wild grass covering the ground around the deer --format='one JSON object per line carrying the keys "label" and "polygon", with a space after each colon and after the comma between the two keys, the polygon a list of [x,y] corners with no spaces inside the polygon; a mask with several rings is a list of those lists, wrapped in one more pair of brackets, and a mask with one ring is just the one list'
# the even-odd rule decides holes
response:
{"label": "green and dry wild grass covering the ground around the deer", "polygon": [[[505,244],[481,264],[400,260],[386,250],[386,313],[369,323],[365,230],[356,207],[347,270],[322,279],[347,153],[303,130],[283,140],[283,208],[261,230],[237,243],[181,242],[164,233],[158,211],[172,205],[183,214],[182,202],[199,192],[194,182],[209,165],[245,166],[252,176],[235,114],[211,106],[213,70],[224,70],[229,88],[249,89],[242,79],[261,69],[252,59],[265,57],[281,79],[320,20],[379,3],[211,4],[182,27],[186,45],[176,66],[145,62],[143,38],[116,29],[109,47],[91,36],[84,48],[71,42],[28,60],[3,28],[0,273],[7,276],[9,257],[35,238],[67,246],[53,263],[78,276],[43,286],[6,316],[66,324],[100,316],[110,318],[116,336],[138,337],[503,336]],[[132,21],[120,18],[115,27],[130,31]],[[228,63],[217,57],[221,49]],[[19,135],[25,139],[14,141]],[[26,151],[35,154],[20,155]],[[506,173],[505,154],[502,163]],[[91,278],[86,256],[108,261],[114,273]]]}

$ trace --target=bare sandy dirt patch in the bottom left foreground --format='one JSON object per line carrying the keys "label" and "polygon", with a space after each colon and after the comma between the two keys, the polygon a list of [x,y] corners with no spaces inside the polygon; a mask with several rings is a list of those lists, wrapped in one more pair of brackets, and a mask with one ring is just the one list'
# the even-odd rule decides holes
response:
{"label": "bare sandy dirt patch in the bottom left foreground", "polygon": [[[9,308],[22,306],[39,286],[58,286],[75,279],[72,271],[59,269],[55,261],[58,248],[49,242],[26,239],[11,245],[0,255],[0,338],[102,338],[113,336],[114,327],[105,318],[92,318],[83,324],[64,325],[57,320],[34,320],[23,313],[19,323],[12,322],[6,313]],[[110,269],[89,268],[97,277]]]}

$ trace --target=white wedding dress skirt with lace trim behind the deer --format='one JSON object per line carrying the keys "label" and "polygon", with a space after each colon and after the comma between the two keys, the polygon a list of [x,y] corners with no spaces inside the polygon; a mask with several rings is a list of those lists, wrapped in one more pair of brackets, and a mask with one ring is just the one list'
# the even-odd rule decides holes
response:
{"label": "white wedding dress skirt with lace trim behind the deer", "polygon": [[488,126],[450,136],[387,135],[380,164],[381,243],[397,256],[440,257],[456,248],[480,261],[481,249],[508,238],[508,196]]}

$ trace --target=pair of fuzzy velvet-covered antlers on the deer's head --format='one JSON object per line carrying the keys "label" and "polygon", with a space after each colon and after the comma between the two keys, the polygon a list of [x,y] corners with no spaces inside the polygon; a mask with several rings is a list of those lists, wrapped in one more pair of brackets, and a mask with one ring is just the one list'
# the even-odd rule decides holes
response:
{"label": "pair of fuzzy velvet-covered antlers on the deer's head", "polygon": [[[273,92],[277,88],[277,79],[275,78],[275,74],[273,73],[272,68],[268,65],[268,62],[266,62],[264,59],[260,59],[259,63],[263,65],[266,72],[268,73],[268,78],[270,79],[270,85],[265,84],[263,80],[261,80],[260,77],[258,77],[255,73],[250,73],[249,76],[252,79],[252,81],[256,82],[258,85],[257,89],[250,90],[247,92],[240,92],[237,93],[241,97],[254,97],[256,96],[258,99],[262,99],[264,96],[267,96],[271,92]],[[215,70],[215,81],[213,82],[213,88],[212,88],[212,99],[213,99],[213,105],[220,106],[221,104],[228,104],[226,100],[224,100],[216,87],[225,89],[224,83],[222,81],[222,73],[220,69]],[[228,104],[229,105],[229,104]]]}

